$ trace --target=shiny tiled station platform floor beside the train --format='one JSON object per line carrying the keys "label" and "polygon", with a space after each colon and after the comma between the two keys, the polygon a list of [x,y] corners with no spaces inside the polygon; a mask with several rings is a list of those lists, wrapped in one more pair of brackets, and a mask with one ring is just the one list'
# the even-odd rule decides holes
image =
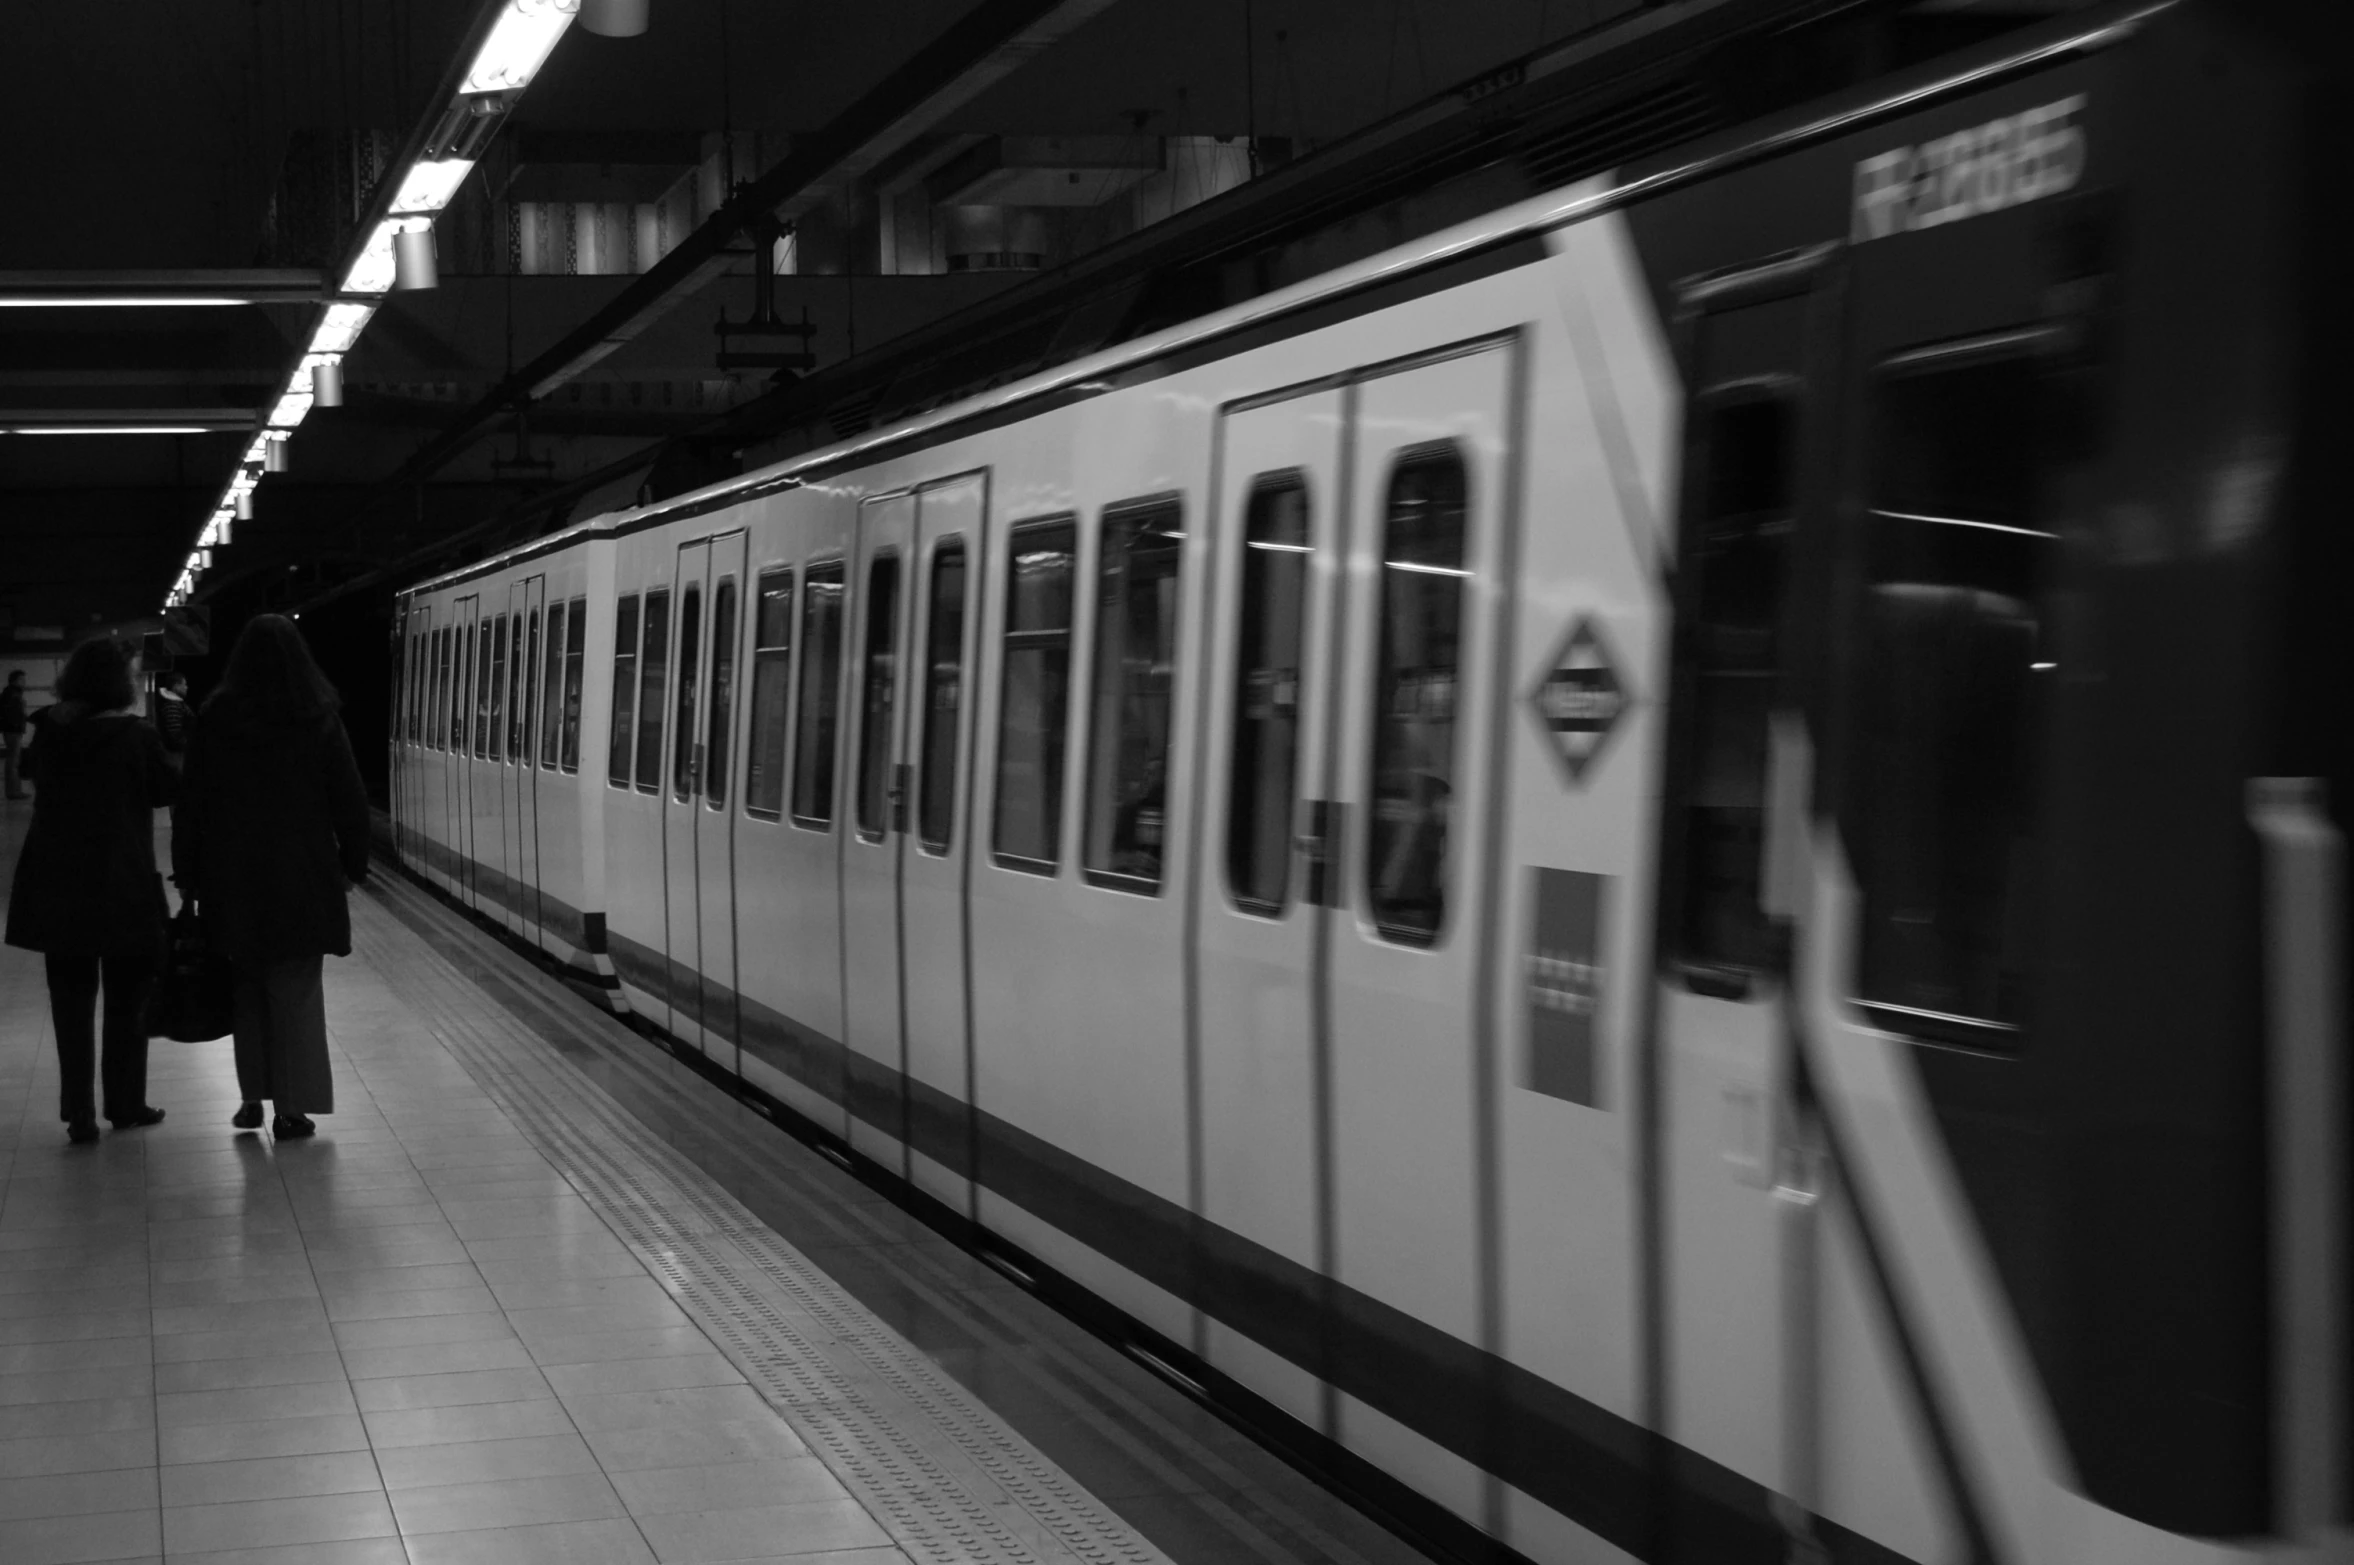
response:
{"label": "shiny tiled station platform floor beside the train", "polygon": [[353,946],[315,1139],[155,1040],[97,1146],[0,948],[7,1565],[1424,1558],[398,873]]}

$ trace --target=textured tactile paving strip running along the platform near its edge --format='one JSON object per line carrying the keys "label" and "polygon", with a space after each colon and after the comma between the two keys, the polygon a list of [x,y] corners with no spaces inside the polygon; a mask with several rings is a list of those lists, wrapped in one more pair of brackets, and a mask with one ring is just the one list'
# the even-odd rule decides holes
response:
{"label": "textured tactile paving strip running along the platform near its edge", "polygon": [[[367,923],[353,934],[374,944]],[[450,979],[417,986],[419,1017],[911,1558],[1165,1565],[600,1087],[468,1017]]]}

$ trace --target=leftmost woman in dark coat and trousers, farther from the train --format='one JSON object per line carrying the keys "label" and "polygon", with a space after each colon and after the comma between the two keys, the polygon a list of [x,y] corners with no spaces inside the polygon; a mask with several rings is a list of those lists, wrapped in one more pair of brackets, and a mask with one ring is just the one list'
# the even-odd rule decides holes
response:
{"label": "leftmost woman in dark coat and trousers, farther from the train", "polygon": [[162,1120],[162,1108],[146,1101],[141,1012],[162,960],[155,810],[172,803],[177,779],[155,730],[129,711],[132,659],[120,645],[82,642],[56,675],[56,706],[33,720],[33,746],[24,755],[40,793],[9,887],[7,944],[45,958],[56,1031],[56,1118],[75,1141],[97,1141],[89,1071],[101,979],[106,1118],[115,1130]]}

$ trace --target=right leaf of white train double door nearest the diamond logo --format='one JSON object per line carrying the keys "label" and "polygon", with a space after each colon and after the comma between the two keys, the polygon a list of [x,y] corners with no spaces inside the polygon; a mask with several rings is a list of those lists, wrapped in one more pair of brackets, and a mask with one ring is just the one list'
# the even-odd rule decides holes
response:
{"label": "right leaf of white train double door nearest the diamond logo", "polygon": [[[1514,348],[1365,377],[1351,409],[1328,875],[1332,1271],[1346,1294],[1488,1344],[1481,953]],[[1358,1379],[1368,1391],[1382,1377]],[[1478,1476],[1339,1396],[1337,1436],[1476,1516]]]}

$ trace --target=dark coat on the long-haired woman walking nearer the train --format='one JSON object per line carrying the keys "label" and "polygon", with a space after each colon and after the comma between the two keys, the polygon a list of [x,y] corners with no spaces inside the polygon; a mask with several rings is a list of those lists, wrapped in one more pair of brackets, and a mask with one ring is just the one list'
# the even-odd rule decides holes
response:
{"label": "dark coat on the long-haired woman walking nearer the train", "polygon": [[344,883],[367,878],[367,791],[334,713],[271,722],[221,694],[188,737],[172,873],[228,960],[351,955]]}

